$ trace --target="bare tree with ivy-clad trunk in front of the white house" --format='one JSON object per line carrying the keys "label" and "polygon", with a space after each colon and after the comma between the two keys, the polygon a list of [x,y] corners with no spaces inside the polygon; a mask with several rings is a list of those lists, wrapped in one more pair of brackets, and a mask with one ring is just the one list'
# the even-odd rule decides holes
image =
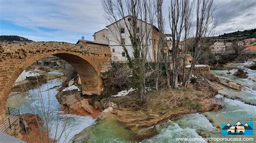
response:
{"label": "bare tree with ivy-clad trunk in front of the white house", "polygon": [[[133,70],[133,76],[139,85],[140,99],[145,101],[145,74],[146,61],[149,53],[149,43],[153,27],[154,10],[151,1],[138,0],[102,0],[105,10],[105,18],[112,24],[113,28],[109,28],[109,32],[114,38],[117,45],[122,46],[125,51],[127,62]],[[124,23],[120,20],[123,19]],[[131,45],[125,45],[122,42],[122,33],[120,29],[125,27],[129,33]],[[132,56],[129,54],[127,47],[132,47]]]}

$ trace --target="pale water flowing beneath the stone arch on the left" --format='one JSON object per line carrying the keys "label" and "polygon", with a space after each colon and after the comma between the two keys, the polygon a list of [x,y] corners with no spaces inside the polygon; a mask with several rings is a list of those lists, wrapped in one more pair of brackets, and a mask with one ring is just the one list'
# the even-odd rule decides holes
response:
{"label": "pale water flowing beneath the stone arch on the left", "polygon": [[[53,74],[58,73],[53,72]],[[53,87],[60,85],[62,80],[48,81],[39,88],[30,89],[25,94],[10,97],[7,106],[21,110],[21,113],[38,114],[43,119],[49,117],[51,138],[54,139],[56,135],[59,142],[70,142],[74,135],[95,124],[95,119],[90,116],[59,115],[60,105],[55,97],[58,90]]]}

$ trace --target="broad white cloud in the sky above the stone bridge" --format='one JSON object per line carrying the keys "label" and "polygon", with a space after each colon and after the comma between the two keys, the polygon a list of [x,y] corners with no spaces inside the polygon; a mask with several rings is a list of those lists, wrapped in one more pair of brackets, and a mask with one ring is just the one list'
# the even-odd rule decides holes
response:
{"label": "broad white cloud in the sky above the stone bridge", "polygon": [[0,5],[1,19],[29,27],[40,35],[78,34],[92,39],[92,34],[106,25],[100,1],[1,0]]}

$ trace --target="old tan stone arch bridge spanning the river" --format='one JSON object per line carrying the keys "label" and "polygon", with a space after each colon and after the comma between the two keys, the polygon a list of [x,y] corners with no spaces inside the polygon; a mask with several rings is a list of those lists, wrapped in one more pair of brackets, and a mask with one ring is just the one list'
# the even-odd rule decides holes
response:
{"label": "old tan stone arch bridge spanning the river", "polygon": [[101,94],[100,71],[103,63],[111,62],[107,45],[93,42],[0,42],[0,123],[5,119],[6,102],[18,76],[32,63],[49,55],[69,62],[78,71],[83,94]]}

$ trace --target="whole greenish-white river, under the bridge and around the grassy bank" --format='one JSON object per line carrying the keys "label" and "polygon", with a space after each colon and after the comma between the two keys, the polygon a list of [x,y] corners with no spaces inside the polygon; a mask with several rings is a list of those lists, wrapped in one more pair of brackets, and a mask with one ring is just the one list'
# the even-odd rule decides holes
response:
{"label": "whole greenish-white river, under the bridge and around the grassy bank", "polygon": [[[244,64],[233,64],[232,66],[244,67]],[[228,96],[237,96],[249,103],[256,103],[256,70],[246,69],[248,72],[248,78],[242,79],[238,78],[232,74],[227,74],[227,70],[212,70],[212,74],[226,78],[230,81],[239,82],[245,85],[241,90],[233,90],[230,88],[224,88],[220,90],[219,93],[226,94]],[[235,70],[231,70],[234,73]],[[251,79],[250,79],[251,78]],[[252,80],[253,79],[253,80]],[[61,80],[51,80],[46,84],[41,85],[39,89],[31,89],[29,93],[11,97],[8,99],[8,106],[19,108],[23,113],[31,112],[26,104],[30,104],[32,109],[35,110],[35,105],[38,105],[40,99],[38,98],[38,90],[42,90],[42,99],[49,105],[50,110],[50,125],[51,133],[54,134],[57,125],[56,113],[58,112],[59,104],[55,96],[57,94],[57,89],[53,86],[60,85]],[[50,89],[50,90],[47,90]],[[51,96],[49,96],[51,95]],[[246,123],[247,121],[256,121],[256,106],[245,104],[241,101],[225,98],[221,95],[215,96],[216,100],[224,105],[224,108],[220,111],[204,112],[204,113],[194,113],[191,115],[184,115],[176,118],[175,120],[166,121],[163,124],[157,125],[158,135],[151,139],[143,140],[142,142],[177,142],[176,138],[182,137],[197,137],[202,138],[199,132],[204,132],[210,137],[223,137],[221,135],[221,129],[218,129],[210,123],[214,122],[221,127],[221,124],[231,123],[234,124],[238,120],[241,123]],[[17,105],[17,100],[22,103],[22,105]],[[35,102],[36,101],[36,102]],[[38,111],[39,114],[42,111]],[[36,113],[38,113],[36,112]],[[207,118],[206,118],[207,116]],[[86,137],[88,142],[130,142],[132,141],[132,133],[124,125],[118,123],[115,119],[98,121],[95,124],[95,120],[89,116],[75,116],[75,115],[60,115],[60,123],[58,127],[66,125],[65,135],[60,138],[60,142],[70,142],[71,138],[79,133],[80,137]],[[87,128],[86,128],[87,127]],[[84,128],[86,128],[84,130]],[[253,128],[256,128],[255,124]],[[62,128],[59,128],[58,134],[61,133]],[[254,130],[255,131],[255,130]],[[64,137],[68,134],[68,138]],[[52,136],[53,137],[53,136]],[[230,138],[232,136],[225,136]],[[248,137],[244,135],[239,135],[236,137]],[[252,137],[252,136],[250,136]],[[254,137],[255,140],[255,137]],[[221,141],[220,141],[221,142]]]}

